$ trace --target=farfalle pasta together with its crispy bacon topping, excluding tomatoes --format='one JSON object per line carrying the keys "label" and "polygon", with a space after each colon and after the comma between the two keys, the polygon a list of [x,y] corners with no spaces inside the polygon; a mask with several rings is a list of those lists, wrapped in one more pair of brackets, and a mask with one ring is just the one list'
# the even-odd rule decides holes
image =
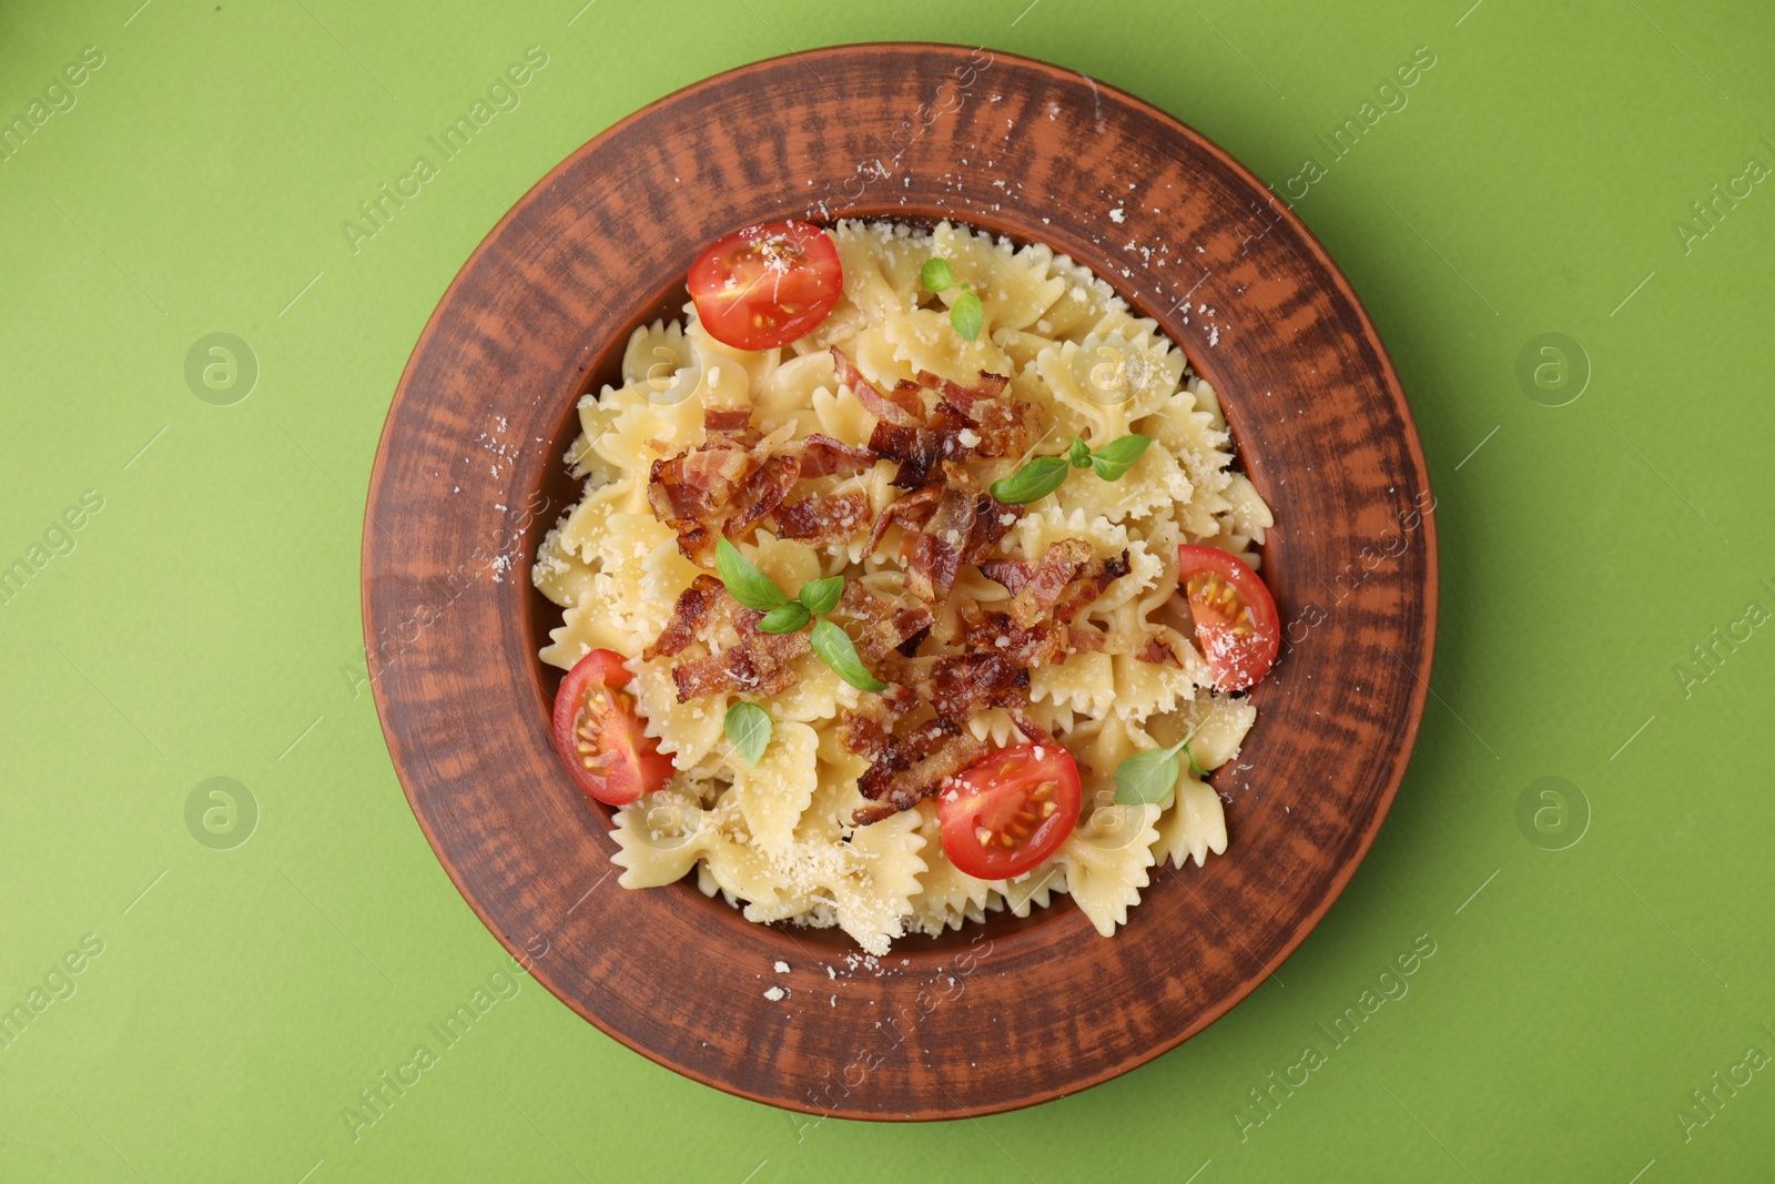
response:
{"label": "farfalle pasta together with its crispy bacon topping, excluding tomatoes", "polygon": [[[1028,914],[1054,893],[1111,935],[1156,864],[1227,849],[1203,777],[1257,714],[1218,689],[1180,607],[1179,556],[1212,547],[1255,566],[1269,509],[1234,469],[1212,389],[1088,270],[953,224],[840,222],[829,234],[843,288],[815,328],[742,350],[692,304],[682,323],[635,330],[621,385],[579,407],[564,460],[584,495],[532,570],[563,609],[541,659],[572,669],[596,650],[623,655],[623,692],[671,762],[664,785],[616,811],[619,882],[694,873],[753,921],[836,925],[875,955],[907,934]],[[923,272],[932,259],[948,264],[941,291]],[[980,311],[971,341],[955,328],[967,298]],[[950,426],[934,426],[944,415]],[[1083,456],[1129,435],[1152,446],[1115,479],[1086,469],[1026,504],[996,501],[1035,454],[1081,440]],[[692,502],[724,509],[698,518]],[[946,527],[957,504],[966,529]],[[760,612],[714,579],[721,547],[779,589],[845,577],[825,618],[808,618],[847,630],[863,678],[806,625],[760,632]],[[994,648],[1010,657],[994,662]],[[957,715],[943,662],[964,657],[998,682],[978,675]],[[737,703],[769,719],[756,762],[724,731]],[[943,827],[958,770],[877,793],[884,751],[902,754],[888,770],[902,781],[927,756],[893,747],[921,728],[969,760],[1063,747],[1077,825],[1026,873],[962,870]],[[1186,738],[1170,792],[1116,801],[1124,762]]]}

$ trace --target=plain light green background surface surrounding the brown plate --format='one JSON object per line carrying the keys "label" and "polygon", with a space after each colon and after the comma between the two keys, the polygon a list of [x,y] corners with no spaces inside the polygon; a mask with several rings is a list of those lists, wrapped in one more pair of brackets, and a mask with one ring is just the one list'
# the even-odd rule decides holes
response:
{"label": "plain light green background surface surrounding the brown plate", "polygon": [[[1775,179],[1692,209],[1775,165],[1768,5],[582,2],[0,4],[7,122],[105,55],[0,163],[0,566],[103,499],[0,604],[0,1008],[103,943],[0,1051],[0,1179],[1768,1179],[1775,630],[1747,607],[1775,607]],[[341,1111],[504,960],[362,683],[360,506],[401,366],[486,229],[602,128],[895,37],[1063,62],[1278,188],[1436,55],[1298,204],[1441,499],[1434,698],[1393,813],[1276,982],[1033,1111],[815,1124],[524,982],[353,1140]],[[532,44],[522,107],[353,254],[341,222]],[[233,407],[185,380],[213,332],[261,367]],[[1518,380],[1550,332],[1590,371],[1566,407],[1574,380]],[[259,808],[231,850],[186,825],[213,776]],[[1519,822],[1541,777],[1562,795]],[[1420,935],[1409,992],[1258,1109]]]}

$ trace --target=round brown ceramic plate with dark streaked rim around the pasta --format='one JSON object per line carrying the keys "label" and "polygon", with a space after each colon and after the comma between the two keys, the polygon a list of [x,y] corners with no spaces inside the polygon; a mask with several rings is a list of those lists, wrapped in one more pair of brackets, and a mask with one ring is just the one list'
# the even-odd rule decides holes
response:
{"label": "round brown ceramic plate with dark streaked rim around the pasta", "polygon": [[[559,611],[531,589],[529,563],[575,497],[561,463],[575,399],[618,373],[635,325],[676,316],[705,245],[785,217],[948,217],[1088,264],[1214,383],[1274,508],[1264,575],[1289,635],[1241,758],[1214,777],[1230,847],[1205,868],[1156,870],[1115,939],[1056,896],[1028,920],[907,937],[879,967],[852,967],[840,930],[751,925],[689,880],[618,888],[609,815],[557,765],[557,673],[536,648]],[[1424,708],[1429,506],[1374,325],[1319,243],[1227,153],[1058,66],[840,46],[653,103],[493,227],[389,410],[364,529],[364,632],[426,838],[568,1006],[660,1065],[761,1102],[980,1115],[1095,1085],[1202,1031],[1342,891]],[[777,960],[792,971],[774,975]],[[772,985],[788,999],[769,1001]]]}

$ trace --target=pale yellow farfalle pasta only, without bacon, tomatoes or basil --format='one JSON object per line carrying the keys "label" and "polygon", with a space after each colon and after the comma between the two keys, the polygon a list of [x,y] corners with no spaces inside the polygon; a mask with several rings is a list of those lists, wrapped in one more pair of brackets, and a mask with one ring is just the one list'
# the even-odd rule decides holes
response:
{"label": "pale yellow farfalle pasta only, without bacon, tomatoes or basil", "polygon": [[[1127,756],[1175,744],[1191,730],[1202,770],[1237,754],[1257,712],[1214,689],[1193,635],[1168,623],[1166,605],[1179,582],[1179,543],[1219,547],[1257,566],[1271,513],[1234,469],[1212,389],[1152,320],[1136,318],[1086,268],[1047,247],[1014,249],[951,224],[923,231],[840,222],[829,231],[843,296],[811,334],[785,348],[737,350],[715,341],[685,305],[683,321],[635,330],[621,385],[579,407],[582,435],[566,463],[584,479],[584,493],[548,531],[532,568],[536,588],[563,609],[541,659],[568,669],[596,648],[628,655],[635,675],[628,691],[646,733],[674,763],[664,790],[616,813],[619,882],[653,888],[694,872],[703,893],[721,895],[747,920],[836,925],[873,955],[888,953],[896,937],[941,934],[994,911],[1028,914],[1054,893],[1070,895],[1100,934],[1113,935],[1157,864],[1200,866],[1209,852],[1227,850],[1221,801],[1191,769],[1156,806],[1116,806],[1111,774]],[[919,266],[934,256],[982,296],[976,341],[951,330],[948,293],[919,286]],[[1154,440],[1118,481],[1076,474],[1026,506],[999,543],[1006,559],[1035,563],[1049,543],[1083,540],[1097,556],[1127,552],[1129,568],[1079,620],[1106,635],[1102,650],[1030,673],[1028,717],[1076,758],[1085,806],[1060,850],[1015,880],[976,880],[948,861],[935,799],[852,824],[864,804],[857,777],[868,760],[845,749],[840,724],[861,692],[815,655],[793,659],[785,694],[721,692],[682,703],[673,659],[641,657],[703,573],[650,506],[653,463],[703,446],[712,407],[747,408],[767,437],[818,433],[866,446],[875,415],[838,380],[832,346],[882,391],[919,371],[962,385],[982,373],[1006,376],[1008,394],[1038,408],[1047,454],[1074,437],[1092,447],[1136,431]],[[1115,385],[1115,398],[1102,396],[1104,383]],[[987,462],[982,479],[1008,476],[1019,460]],[[905,495],[893,476],[895,465],[880,460],[811,483],[825,497],[863,495],[873,520]],[[735,543],[792,595],[806,580],[840,573],[852,582],[898,579],[886,549],[870,554],[868,529],[808,545],[760,525]],[[962,586],[982,598],[1006,595],[966,568]],[[1156,634],[1173,639],[1175,662],[1138,657]],[[722,733],[737,698],[756,701],[772,719],[756,765]],[[990,746],[1024,740],[996,706],[969,728]]]}

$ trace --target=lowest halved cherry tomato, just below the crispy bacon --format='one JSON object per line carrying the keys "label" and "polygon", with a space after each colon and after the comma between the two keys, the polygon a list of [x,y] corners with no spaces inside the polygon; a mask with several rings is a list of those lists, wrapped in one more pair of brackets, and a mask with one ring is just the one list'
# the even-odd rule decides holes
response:
{"label": "lowest halved cherry tomato, just below the crispy bacon", "polygon": [[999,749],[937,795],[943,854],[980,880],[1022,875],[1079,822],[1079,767],[1058,744]]}

